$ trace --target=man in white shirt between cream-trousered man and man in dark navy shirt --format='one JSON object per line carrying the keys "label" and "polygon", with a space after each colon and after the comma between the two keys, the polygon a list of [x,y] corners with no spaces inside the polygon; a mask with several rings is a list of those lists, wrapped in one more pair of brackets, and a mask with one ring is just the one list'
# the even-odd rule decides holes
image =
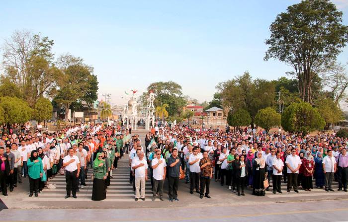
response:
{"label": "man in white shirt between cream-trousered man and man in dark navy shirt", "polygon": [[166,179],[167,163],[164,158],[161,158],[161,151],[156,151],[156,158],[153,158],[151,161],[151,167],[153,168],[153,196],[152,201],[155,201],[156,194],[160,195],[160,200],[164,201],[163,196],[163,184]]}

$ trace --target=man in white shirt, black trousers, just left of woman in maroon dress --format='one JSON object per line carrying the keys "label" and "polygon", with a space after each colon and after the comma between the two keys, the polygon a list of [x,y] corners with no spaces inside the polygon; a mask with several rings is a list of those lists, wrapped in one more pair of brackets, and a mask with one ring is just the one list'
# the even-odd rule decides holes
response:
{"label": "man in white shirt, black trousers, just left of woman in maroon dress", "polygon": [[298,155],[296,155],[296,149],[291,149],[291,155],[286,157],[285,163],[287,165],[287,192],[290,192],[291,186],[293,186],[294,191],[298,193],[297,190],[297,177],[298,169],[300,168],[302,161]]}

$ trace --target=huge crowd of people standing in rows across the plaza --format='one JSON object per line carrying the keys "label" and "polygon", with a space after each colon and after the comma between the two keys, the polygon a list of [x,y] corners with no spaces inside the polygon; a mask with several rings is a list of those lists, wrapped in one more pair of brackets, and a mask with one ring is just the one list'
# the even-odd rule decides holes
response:
{"label": "huge crowd of people standing in rows across the plaza", "polygon": [[[29,197],[37,197],[57,174],[66,178],[65,198],[77,198],[86,186],[87,170],[93,170],[92,200],[104,200],[117,163],[129,153],[129,182],[135,201],[145,200],[146,181],[151,180],[152,200],[163,201],[168,183],[169,201],[179,201],[179,180],[190,183],[190,194],[210,197],[211,180],[227,186],[238,196],[246,189],[256,196],[265,190],[282,193],[305,191],[314,186],[347,192],[347,138],[335,133],[294,135],[281,130],[266,133],[245,128],[240,131],[194,129],[175,125],[155,126],[146,137],[131,136],[129,129],[100,124],[81,124],[54,133],[3,132],[0,140],[0,186],[3,195],[17,183],[29,180]],[[270,181],[272,180],[272,182]]]}

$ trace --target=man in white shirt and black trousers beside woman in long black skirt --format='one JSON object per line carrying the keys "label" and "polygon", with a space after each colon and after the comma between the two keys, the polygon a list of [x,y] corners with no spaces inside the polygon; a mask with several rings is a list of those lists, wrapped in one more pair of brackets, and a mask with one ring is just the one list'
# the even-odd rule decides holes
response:
{"label": "man in white shirt and black trousers beside woman in long black skirt", "polygon": [[63,159],[63,166],[65,167],[65,180],[67,182],[67,196],[70,197],[72,191],[73,198],[78,198],[76,196],[76,191],[78,188],[78,178],[80,175],[80,160],[79,157],[74,155],[74,149],[68,149],[69,155],[65,156]]}

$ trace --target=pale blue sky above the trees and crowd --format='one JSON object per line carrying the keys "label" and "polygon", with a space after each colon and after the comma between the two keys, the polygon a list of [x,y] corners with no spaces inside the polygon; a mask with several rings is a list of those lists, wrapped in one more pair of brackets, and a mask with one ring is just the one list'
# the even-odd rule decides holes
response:
{"label": "pale blue sky above the trees and crowd", "polygon": [[[41,32],[53,53],[69,52],[94,67],[99,99],[123,104],[155,81],[173,80],[184,95],[210,101],[218,82],[245,71],[276,79],[292,71],[263,61],[269,25],[298,0],[16,0],[0,6],[0,42],[14,30]],[[334,0],[348,24],[348,0]],[[347,47],[339,56],[348,61]]]}

